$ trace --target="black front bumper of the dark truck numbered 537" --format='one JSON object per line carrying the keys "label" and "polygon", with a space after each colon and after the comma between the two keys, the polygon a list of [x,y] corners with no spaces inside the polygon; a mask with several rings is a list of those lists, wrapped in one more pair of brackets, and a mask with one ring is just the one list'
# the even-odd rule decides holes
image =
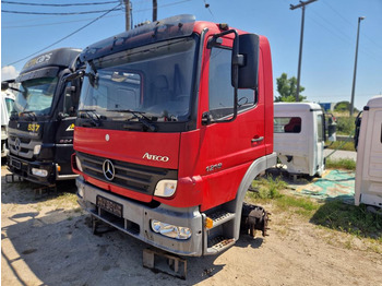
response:
{"label": "black front bumper of the dark truck numbered 537", "polygon": [[[53,184],[57,180],[73,180],[79,177],[77,175],[60,176],[57,169],[58,165],[53,162],[29,162],[10,154],[7,156],[7,165],[8,169],[14,175],[20,176],[25,180],[46,186]],[[32,168],[47,170],[48,176],[36,176],[32,172]]]}

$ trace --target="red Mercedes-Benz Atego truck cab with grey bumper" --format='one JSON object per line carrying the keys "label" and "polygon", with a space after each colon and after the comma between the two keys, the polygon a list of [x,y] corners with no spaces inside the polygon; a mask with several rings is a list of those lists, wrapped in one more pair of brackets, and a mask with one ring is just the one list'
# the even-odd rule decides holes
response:
{"label": "red Mercedes-Benz Atego truck cab with grey bumper", "polygon": [[150,245],[218,253],[275,165],[264,36],[180,15],[87,47],[74,131],[80,204]]}

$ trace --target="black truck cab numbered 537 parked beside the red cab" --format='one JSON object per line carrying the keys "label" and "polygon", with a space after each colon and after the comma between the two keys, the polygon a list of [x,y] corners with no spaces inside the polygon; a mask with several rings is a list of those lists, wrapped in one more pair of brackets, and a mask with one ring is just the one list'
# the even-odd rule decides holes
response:
{"label": "black truck cab numbered 537 parked beside the red cab", "polygon": [[7,164],[13,174],[41,184],[74,179],[73,131],[81,80],[65,78],[81,69],[80,49],[59,48],[31,59],[9,122]]}

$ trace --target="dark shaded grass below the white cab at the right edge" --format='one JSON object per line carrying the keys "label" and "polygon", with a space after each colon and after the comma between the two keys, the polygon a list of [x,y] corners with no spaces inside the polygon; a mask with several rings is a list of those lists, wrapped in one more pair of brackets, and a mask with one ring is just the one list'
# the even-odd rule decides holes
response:
{"label": "dark shaded grass below the white cab at the right edge", "polygon": [[370,237],[379,241],[382,239],[382,216],[368,212],[365,205],[327,201],[315,212],[311,222],[358,237]]}

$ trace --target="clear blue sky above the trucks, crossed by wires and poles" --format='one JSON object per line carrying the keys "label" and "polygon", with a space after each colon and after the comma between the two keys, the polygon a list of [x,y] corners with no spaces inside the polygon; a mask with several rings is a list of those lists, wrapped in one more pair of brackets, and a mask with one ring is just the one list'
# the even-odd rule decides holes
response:
{"label": "clear blue sky above the trucks, crossed by wires and poles", "polygon": [[[17,2],[24,4],[11,4]],[[111,2],[108,4],[94,4]],[[122,1],[123,2],[123,1]],[[193,14],[196,21],[228,23],[229,26],[268,38],[273,60],[274,94],[283,72],[297,78],[301,9],[297,0],[157,0],[158,20]],[[25,3],[73,7],[25,5]],[[152,20],[152,0],[131,0],[133,25]],[[1,3],[1,79],[14,78],[24,63],[55,48],[85,48],[123,32],[123,10],[76,15],[35,15],[4,11],[72,13],[110,10],[114,0],[9,0]],[[210,7],[206,8],[206,4]],[[122,9],[124,9],[122,7]],[[307,100],[350,102],[358,17],[360,22],[355,107],[382,94],[382,0],[318,0],[306,7],[301,62],[301,86]],[[99,20],[89,24],[95,19]],[[87,25],[87,26],[85,26]],[[84,27],[85,26],[85,27]],[[77,33],[77,29],[81,29]],[[73,34],[73,35],[71,35]],[[60,39],[64,38],[60,41]],[[59,41],[59,43],[57,43]],[[57,43],[56,45],[52,45]],[[48,47],[48,48],[47,48]],[[47,49],[45,49],[47,48]],[[43,51],[44,50],[44,51]]]}

